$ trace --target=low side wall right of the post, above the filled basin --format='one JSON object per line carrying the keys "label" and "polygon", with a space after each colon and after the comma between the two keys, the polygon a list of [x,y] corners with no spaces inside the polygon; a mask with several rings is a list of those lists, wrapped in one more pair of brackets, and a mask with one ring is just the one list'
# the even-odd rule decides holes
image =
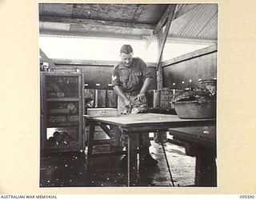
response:
{"label": "low side wall right of the post, above the filled basin", "polygon": [[162,62],[162,66],[164,87],[198,87],[199,79],[217,78],[217,46],[209,46]]}

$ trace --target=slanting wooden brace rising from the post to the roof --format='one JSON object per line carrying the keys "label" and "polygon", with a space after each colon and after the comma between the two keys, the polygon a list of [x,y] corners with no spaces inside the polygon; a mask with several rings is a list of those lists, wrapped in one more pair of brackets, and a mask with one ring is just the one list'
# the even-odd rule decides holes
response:
{"label": "slanting wooden brace rising from the post to the roof", "polygon": [[176,8],[176,5],[172,6],[171,10],[168,11],[168,13],[170,15],[169,15],[168,20],[166,22],[166,29],[165,29],[164,33],[162,34],[162,36],[161,36],[162,41],[160,42],[160,49],[159,49],[159,52],[158,52],[157,70],[158,70],[160,62],[161,62],[162,52],[163,52],[163,49],[164,49],[164,46],[165,46],[165,43],[166,43],[166,38],[167,38],[169,30],[170,30],[170,25],[171,25],[171,22],[173,21],[173,18],[174,18],[175,8]]}

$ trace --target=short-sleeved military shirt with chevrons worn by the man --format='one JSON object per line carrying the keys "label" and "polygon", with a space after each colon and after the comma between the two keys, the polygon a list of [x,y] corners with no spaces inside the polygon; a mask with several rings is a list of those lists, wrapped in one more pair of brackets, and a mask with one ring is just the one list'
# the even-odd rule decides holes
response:
{"label": "short-sleeved military shirt with chevrons worn by the man", "polygon": [[128,68],[118,62],[112,71],[112,86],[120,86],[125,93],[136,92],[142,89],[146,78],[153,78],[146,63],[141,58],[133,58]]}

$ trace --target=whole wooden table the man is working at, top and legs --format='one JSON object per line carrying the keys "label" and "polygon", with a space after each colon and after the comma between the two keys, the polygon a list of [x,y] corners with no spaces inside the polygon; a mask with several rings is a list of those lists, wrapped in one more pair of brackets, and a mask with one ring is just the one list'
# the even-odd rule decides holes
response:
{"label": "whole wooden table the man is working at, top and legs", "polygon": [[[90,133],[87,136],[88,155],[90,155],[90,143],[94,136],[94,127],[97,124],[108,124],[118,126],[122,133],[128,136],[127,146],[127,186],[135,186],[138,172],[138,134],[142,131],[156,132],[166,131],[170,128],[191,127],[191,126],[211,126],[215,125],[215,119],[181,119],[177,115],[171,114],[127,114],[117,117],[95,117],[90,118],[84,115],[90,125]],[[90,159],[90,158],[89,158]],[[89,160],[90,162],[90,160]]]}

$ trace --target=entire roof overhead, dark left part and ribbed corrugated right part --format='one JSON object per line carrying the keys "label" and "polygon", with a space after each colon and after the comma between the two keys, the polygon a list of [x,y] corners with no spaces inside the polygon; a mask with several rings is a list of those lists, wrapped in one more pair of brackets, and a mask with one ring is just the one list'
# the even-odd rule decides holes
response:
{"label": "entire roof overhead, dark left part and ribbed corrugated right part", "polygon": [[[40,34],[148,38],[167,4],[40,3]],[[178,4],[169,38],[217,42],[218,4]]]}

